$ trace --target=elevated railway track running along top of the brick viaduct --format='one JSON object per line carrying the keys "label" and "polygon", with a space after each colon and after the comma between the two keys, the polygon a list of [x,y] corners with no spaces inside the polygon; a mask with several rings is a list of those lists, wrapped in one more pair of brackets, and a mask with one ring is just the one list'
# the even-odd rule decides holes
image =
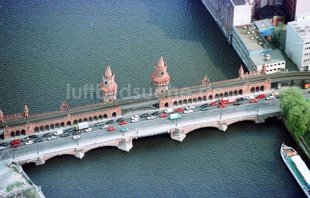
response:
{"label": "elevated railway track running along top of the brick viaduct", "polygon": [[206,92],[210,89],[212,90],[219,90],[223,88],[229,88],[229,87],[238,87],[243,86],[247,82],[250,83],[258,83],[261,81],[266,80],[266,77],[269,78],[272,82],[277,82],[279,80],[287,79],[287,80],[309,80],[310,79],[310,72],[283,72],[283,73],[274,73],[274,74],[268,74],[268,75],[259,75],[259,76],[250,76],[243,79],[238,79],[235,81],[227,81],[227,82],[219,82],[217,84],[210,84],[210,85],[204,85],[199,87],[192,87],[184,90],[176,90],[171,92],[166,92],[163,94],[153,94],[153,95],[142,95],[137,96],[136,98],[129,98],[129,99],[121,99],[118,102],[113,103],[105,103],[105,104],[99,104],[92,107],[87,108],[81,108],[81,109],[74,109],[69,111],[63,111],[63,112],[57,112],[49,115],[42,115],[38,117],[33,118],[27,118],[27,119],[17,119],[17,120],[11,120],[11,121],[5,121],[0,124],[0,128],[3,128],[4,126],[20,126],[24,125],[27,122],[31,123],[38,123],[42,121],[51,121],[55,119],[62,119],[66,117],[68,114],[71,116],[77,116],[81,114],[86,113],[92,113],[92,112],[98,112],[103,111],[108,108],[118,107],[118,106],[130,106],[134,104],[140,104],[140,103],[147,103],[152,101],[158,101],[158,99],[164,99],[164,98],[175,98],[175,97],[181,97],[191,94],[197,94]]}

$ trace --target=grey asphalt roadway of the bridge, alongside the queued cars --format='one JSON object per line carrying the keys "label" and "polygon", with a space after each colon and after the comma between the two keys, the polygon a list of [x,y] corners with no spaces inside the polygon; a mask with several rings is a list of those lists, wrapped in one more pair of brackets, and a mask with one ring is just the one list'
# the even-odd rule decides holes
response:
{"label": "grey asphalt roadway of the bridge, alongside the queued cars", "polygon": [[[310,98],[310,94],[308,91],[303,91],[303,94],[308,99]],[[257,96],[259,94],[255,94],[254,96]],[[268,96],[268,95],[266,95]],[[181,115],[181,118],[178,120],[170,120],[169,115],[165,118],[160,118],[159,115],[156,116],[155,120],[147,120],[147,118],[139,118],[139,122],[132,123],[131,122],[131,116],[130,117],[124,117],[128,124],[124,125],[124,127],[128,128],[129,131],[126,133],[132,133],[139,130],[145,130],[145,129],[153,129],[158,126],[165,126],[165,125],[175,125],[176,122],[178,123],[190,123],[191,121],[200,120],[200,119],[210,119],[215,117],[222,116],[229,116],[229,115],[235,115],[235,114],[241,114],[244,112],[254,112],[257,113],[257,111],[263,111],[268,109],[280,109],[280,99],[275,100],[266,100],[264,99],[258,99],[258,103],[250,103],[248,100],[244,100],[241,102],[241,105],[234,106],[233,104],[227,104],[226,108],[218,108],[218,106],[210,106],[210,110],[208,111],[201,111],[200,105],[195,106],[195,109],[193,109],[193,113],[184,114],[183,112],[179,112]],[[194,104],[188,104],[188,105],[194,105]],[[180,108],[174,107],[174,109]],[[164,110],[164,109],[163,109]],[[163,110],[160,111],[160,113],[163,113]],[[154,112],[154,111],[153,111]],[[145,113],[152,113],[148,110],[148,112]],[[140,116],[140,115],[139,115]],[[119,119],[119,118],[117,118]],[[106,120],[109,121],[109,120]],[[116,119],[114,119],[116,121]],[[100,121],[98,121],[100,122]],[[95,122],[90,125],[90,127],[93,129],[93,131],[86,133],[85,130],[82,130],[82,134],[80,134],[81,139],[73,140],[72,133],[69,137],[62,138],[60,135],[57,136],[57,139],[48,141],[47,138],[44,138],[43,136],[41,138],[44,139],[41,143],[33,143],[32,145],[25,145],[24,142],[20,143],[20,147],[14,148],[14,155],[16,156],[22,156],[27,154],[34,154],[38,152],[38,146],[39,146],[39,152],[50,150],[52,148],[60,148],[65,147],[69,145],[77,145],[78,143],[85,143],[90,141],[95,141],[95,139],[98,138],[104,138],[104,137],[110,137],[110,136],[119,136],[122,135],[121,129],[123,126],[121,126],[119,123],[115,122],[114,124],[110,124],[109,127],[116,127],[115,131],[108,132],[107,129],[102,130],[101,126],[95,126]],[[105,122],[104,122],[105,124]],[[73,127],[71,127],[73,128]],[[54,131],[53,131],[54,132]],[[46,134],[42,133],[43,134]],[[52,132],[50,132],[52,133]],[[125,135],[126,135],[125,133]],[[20,139],[22,140],[22,139]],[[34,142],[34,139],[32,139]],[[8,159],[13,157],[13,149],[10,148],[11,143],[6,147],[6,150],[3,152],[0,152],[1,159]],[[2,155],[3,154],[3,155]],[[9,156],[10,155],[10,156]]]}

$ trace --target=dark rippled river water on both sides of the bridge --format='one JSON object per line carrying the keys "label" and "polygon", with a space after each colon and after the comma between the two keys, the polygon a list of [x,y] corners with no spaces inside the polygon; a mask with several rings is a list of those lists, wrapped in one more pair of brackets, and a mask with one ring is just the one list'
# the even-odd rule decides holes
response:
{"label": "dark rippled river water on both sides of the bridge", "polygon": [[[197,0],[0,1],[0,108],[30,114],[100,102],[107,61],[118,98],[152,91],[160,52],[169,88],[237,77],[241,59]],[[296,148],[277,119],[206,128],[182,143],[134,140],[23,168],[46,197],[304,197],[279,154]]]}

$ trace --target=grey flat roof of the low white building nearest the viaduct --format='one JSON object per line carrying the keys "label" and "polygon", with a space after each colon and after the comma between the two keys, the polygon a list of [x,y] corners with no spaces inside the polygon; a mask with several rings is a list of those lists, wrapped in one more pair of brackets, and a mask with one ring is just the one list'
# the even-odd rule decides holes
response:
{"label": "grey flat roof of the low white building nearest the viaduct", "polygon": [[253,54],[250,55],[250,59],[252,59],[253,63],[257,66],[263,65],[264,62],[266,62],[266,64],[274,64],[285,61],[279,50],[272,50],[265,53]]}

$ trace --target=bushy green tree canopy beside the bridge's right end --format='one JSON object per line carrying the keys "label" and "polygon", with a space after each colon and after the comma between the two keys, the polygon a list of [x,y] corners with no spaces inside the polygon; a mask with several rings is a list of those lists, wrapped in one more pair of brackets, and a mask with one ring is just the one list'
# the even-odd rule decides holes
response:
{"label": "bushy green tree canopy beside the bridge's right end", "polygon": [[281,106],[286,117],[286,125],[296,138],[309,133],[310,103],[299,88],[290,88],[282,92]]}

